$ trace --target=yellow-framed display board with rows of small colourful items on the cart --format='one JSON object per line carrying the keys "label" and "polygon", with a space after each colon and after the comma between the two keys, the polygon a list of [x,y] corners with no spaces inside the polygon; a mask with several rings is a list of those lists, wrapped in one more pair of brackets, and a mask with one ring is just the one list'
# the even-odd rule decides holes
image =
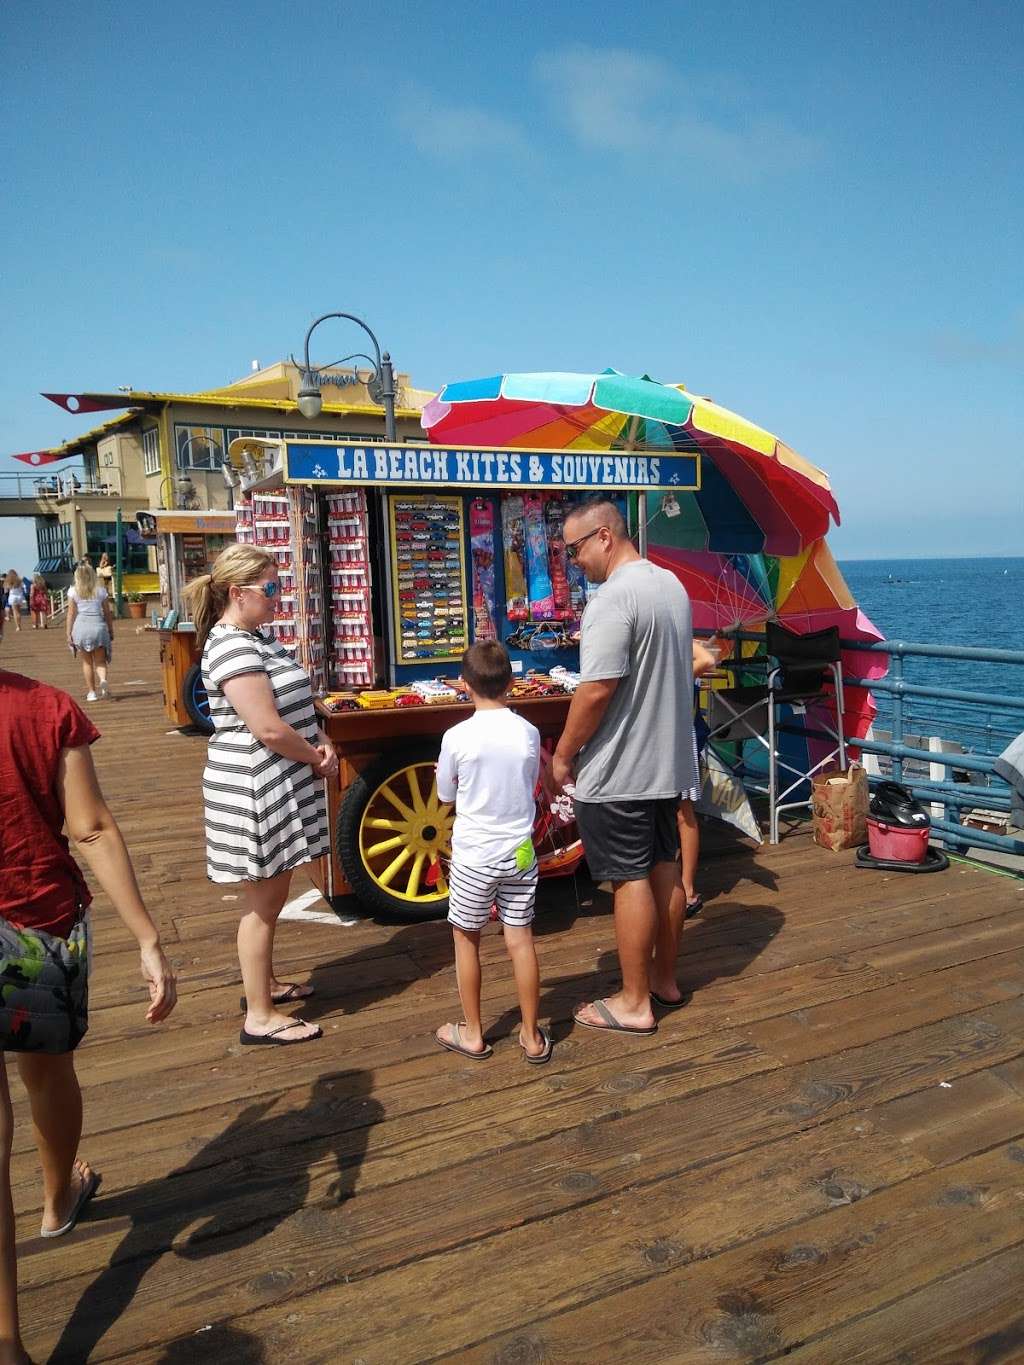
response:
{"label": "yellow-framed display board with rows of small colourful items on the cart", "polygon": [[399,663],[460,659],[468,646],[460,498],[389,498]]}

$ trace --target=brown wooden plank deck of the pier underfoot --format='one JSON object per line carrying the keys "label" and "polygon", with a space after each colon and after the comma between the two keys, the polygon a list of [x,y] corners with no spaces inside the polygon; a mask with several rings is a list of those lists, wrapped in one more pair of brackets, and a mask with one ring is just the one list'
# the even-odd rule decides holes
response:
{"label": "brown wooden plank deck of the pier underfoot", "polygon": [[[81,695],[63,633],[8,628],[0,658]],[[709,838],[696,996],[651,1039],[572,1029],[614,977],[609,901],[549,883],[539,1070],[509,1040],[496,934],[481,1065],[430,1040],[457,1018],[444,924],[285,923],[279,965],[315,984],[326,1037],[239,1048],[205,744],[167,733],[156,642],[128,622],[112,680],[94,752],[180,1003],[142,1022],[100,897],[79,1063],[104,1185],[61,1242],[38,1238],[14,1084],[35,1360],[1024,1360],[1024,883]]]}

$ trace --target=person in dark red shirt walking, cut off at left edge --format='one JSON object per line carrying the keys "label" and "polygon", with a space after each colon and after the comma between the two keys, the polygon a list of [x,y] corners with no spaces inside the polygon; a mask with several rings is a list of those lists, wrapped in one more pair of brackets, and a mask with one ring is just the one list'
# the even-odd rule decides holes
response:
{"label": "person in dark red shirt walking, cut off at left edge", "polygon": [[[0,669],[0,1051],[16,1054],[29,1092],[42,1164],[42,1237],[70,1233],[100,1183],[78,1158],[82,1092],[74,1063],[87,1028],[91,895],[64,827],[138,940],[146,1020],[167,1018],[176,1001],[173,972],[96,778],[89,745],[98,738],[66,692]],[[0,1057],[0,1365],[29,1361],[18,1324],[12,1144]]]}

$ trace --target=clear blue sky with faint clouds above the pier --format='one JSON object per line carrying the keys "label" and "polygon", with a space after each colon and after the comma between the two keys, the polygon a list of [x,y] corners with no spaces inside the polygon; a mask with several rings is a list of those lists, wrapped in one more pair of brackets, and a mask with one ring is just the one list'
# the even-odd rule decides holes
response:
{"label": "clear blue sky with faint clouds above the pier", "polygon": [[40,389],[344,308],[423,388],[710,394],[830,472],[840,557],[1024,553],[1017,0],[8,0],[0,51],[0,472],[83,427]]}

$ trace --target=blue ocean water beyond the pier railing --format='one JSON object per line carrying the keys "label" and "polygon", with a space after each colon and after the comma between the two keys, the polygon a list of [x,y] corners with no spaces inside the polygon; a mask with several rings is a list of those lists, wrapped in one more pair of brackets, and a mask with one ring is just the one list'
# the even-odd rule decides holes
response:
{"label": "blue ocean water beyond the pier railing", "polygon": [[[886,639],[1024,651],[1024,558],[847,560],[840,568],[855,601]],[[999,692],[1021,703],[979,708],[908,699],[907,729],[961,738],[987,752],[999,752],[1024,730],[1024,665],[909,658],[904,680]],[[885,725],[889,704],[882,696],[877,700]]]}

